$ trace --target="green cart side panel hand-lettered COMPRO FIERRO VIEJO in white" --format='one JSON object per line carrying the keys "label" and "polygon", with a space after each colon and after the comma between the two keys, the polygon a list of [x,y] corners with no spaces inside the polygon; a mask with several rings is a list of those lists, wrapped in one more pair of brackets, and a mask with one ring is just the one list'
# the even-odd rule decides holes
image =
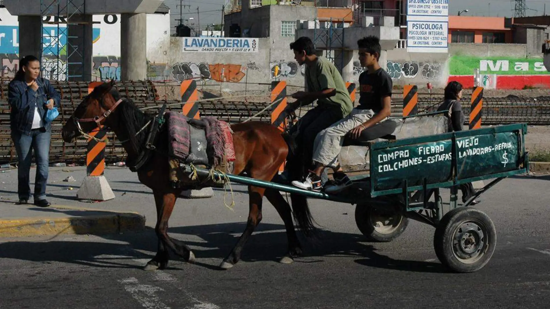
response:
{"label": "green cart side panel hand-lettered COMPRO FIERRO VIEJO in white", "polygon": [[[511,128],[511,127],[509,127]],[[506,129],[504,126],[499,130]],[[519,168],[521,131],[479,129],[371,145],[373,190],[452,182]],[[456,137],[453,147],[453,135]],[[454,164],[456,169],[454,169]],[[464,182],[464,181],[463,181]]]}

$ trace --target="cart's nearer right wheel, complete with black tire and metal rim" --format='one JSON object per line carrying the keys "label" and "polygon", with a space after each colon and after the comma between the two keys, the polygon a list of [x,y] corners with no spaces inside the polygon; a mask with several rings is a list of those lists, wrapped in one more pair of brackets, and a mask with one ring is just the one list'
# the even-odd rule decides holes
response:
{"label": "cart's nearer right wheel, complete with black tire and metal rim", "polygon": [[458,273],[471,273],[491,260],[497,231],[484,212],[472,207],[449,211],[433,235],[433,247],[443,266]]}

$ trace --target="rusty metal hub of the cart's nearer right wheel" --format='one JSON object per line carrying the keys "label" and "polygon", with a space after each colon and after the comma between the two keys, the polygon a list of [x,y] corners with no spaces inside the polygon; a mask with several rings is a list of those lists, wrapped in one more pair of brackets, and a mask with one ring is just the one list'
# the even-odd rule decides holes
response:
{"label": "rusty metal hub of the cart's nearer right wheel", "polygon": [[487,244],[485,234],[482,227],[474,222],[460,224],[453,236],[454,255],[465,263],[475,262]]}

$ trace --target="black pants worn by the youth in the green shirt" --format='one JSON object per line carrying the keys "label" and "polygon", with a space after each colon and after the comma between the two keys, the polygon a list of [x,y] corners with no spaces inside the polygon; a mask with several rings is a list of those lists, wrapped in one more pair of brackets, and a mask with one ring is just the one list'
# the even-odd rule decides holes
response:
{"label": "black pants worn by the youth in the green shirt", "polygon": [[304,175],[306,168],[311,168],[313,143],[317,134],[342,118],[344,117],[340,109],[317,106],[308,111],[296,125],[290,128],[289,134],[296,140],[296,146],[298,146],[296,154],[299,156],[294,162],[299,165],[294,165],[292,168],[299,168],[299,177]]}

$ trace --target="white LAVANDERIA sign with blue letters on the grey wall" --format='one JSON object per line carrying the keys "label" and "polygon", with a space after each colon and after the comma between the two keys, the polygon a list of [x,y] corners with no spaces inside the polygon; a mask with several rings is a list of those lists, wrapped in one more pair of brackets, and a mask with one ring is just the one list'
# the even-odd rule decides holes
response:
{"label": "white LAVANDERIA sign with blue letters on the grey wall", "polygon": [[258,39],[248,37],[184,37],[184,52],[258,52]]}

